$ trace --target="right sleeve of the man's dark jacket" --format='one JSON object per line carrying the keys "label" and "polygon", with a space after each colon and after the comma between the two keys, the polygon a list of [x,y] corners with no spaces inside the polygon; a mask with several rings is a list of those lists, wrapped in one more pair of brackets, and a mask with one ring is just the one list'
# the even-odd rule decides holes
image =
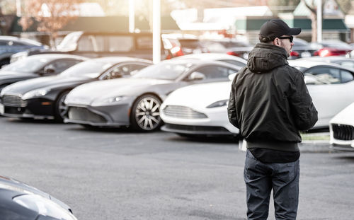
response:
{"label": "right sleeve of the man's dark jacket", "polygon": [[292,118],[299,131],[306,131],[314,127],[318,120],[317,110],[312,103],[312,98],[304,82],[304,75],[301,72],[295,76],[292,95],[290,95],[290,108]]}

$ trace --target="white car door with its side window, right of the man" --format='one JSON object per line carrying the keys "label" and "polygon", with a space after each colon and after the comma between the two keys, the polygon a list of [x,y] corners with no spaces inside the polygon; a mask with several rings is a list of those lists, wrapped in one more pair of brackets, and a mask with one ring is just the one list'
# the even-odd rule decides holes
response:
{"label": "white car door with its side window, right of the man", "polygon": [[[329,120],[354,102],[354,76],[345,69],[316,66],[304,72],[307,88],[319,112],[315,127],[328,127]],[[311,79],[311,80],[309,80]]]}

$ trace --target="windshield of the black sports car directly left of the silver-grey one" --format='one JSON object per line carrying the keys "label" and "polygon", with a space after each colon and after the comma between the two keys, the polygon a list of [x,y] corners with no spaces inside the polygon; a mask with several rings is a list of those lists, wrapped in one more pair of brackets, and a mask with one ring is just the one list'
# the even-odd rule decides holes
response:
{"label": "windshield of the black sports car directly left of the silver-grey one", "polygon": [[60,76],[95,79],[111,66],[113,66],[111,62],[104,62],[102,60],[98,61],[93,59],[70,67],[69,69],[63,71]]}

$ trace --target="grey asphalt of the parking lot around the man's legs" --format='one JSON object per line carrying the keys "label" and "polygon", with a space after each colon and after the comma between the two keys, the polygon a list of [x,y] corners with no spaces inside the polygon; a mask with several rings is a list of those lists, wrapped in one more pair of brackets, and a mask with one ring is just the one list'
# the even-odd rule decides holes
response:
{"label": "grey asphalt of the parking lot around the man's legs", "polygon": [[[317,145],[300,146],[298,219],[353,219],[354,154]],[[0,147],[0,175],[61,199],[78,219],[246,219],[233,140],[0,117]]]}

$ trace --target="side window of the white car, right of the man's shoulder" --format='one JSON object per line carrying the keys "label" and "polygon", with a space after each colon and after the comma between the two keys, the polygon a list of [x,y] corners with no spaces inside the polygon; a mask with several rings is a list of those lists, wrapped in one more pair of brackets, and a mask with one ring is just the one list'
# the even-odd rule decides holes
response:
{"label": "side window of the white car, right of the man's shoulder", "polygon": [[336,84],[341,83],[340,70],[331,67],[314,67],[304,73],[311,77],[311,84]]}

